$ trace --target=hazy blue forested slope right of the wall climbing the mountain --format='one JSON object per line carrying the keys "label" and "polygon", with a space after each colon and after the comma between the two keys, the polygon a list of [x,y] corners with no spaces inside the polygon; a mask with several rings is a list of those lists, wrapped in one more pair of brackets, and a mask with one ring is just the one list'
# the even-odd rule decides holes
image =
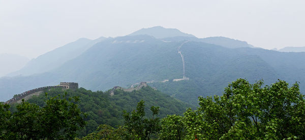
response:
{"label": "hazy blue forested slope right of the wall climbing the mountain", "polygon": [[304,93],[305,53],[215,48],[196,42],[185,44],[181,51],[186,60],[186,77],[190,80],[150,85],[183,101],[195,104],[193,101],[198,96],[219,95],[228,82],[237,78],[252,82],[263,79],[266,84],[277,79],[290,84],[299,81]]}

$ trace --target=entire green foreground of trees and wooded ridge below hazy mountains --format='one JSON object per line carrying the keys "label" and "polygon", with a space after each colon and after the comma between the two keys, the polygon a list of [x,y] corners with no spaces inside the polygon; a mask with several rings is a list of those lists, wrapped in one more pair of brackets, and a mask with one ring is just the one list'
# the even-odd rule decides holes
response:
{"label": "entire green foreground of trees and wooded ridge below hazy mountains", "polygon": [[0,103],[0,138],[305,138],[305,99],[298,83],[264,86],[237,79],[222,96],[201,96],[198,108],[186,111],[188,104],[149,86],[115,90],[113,96],[109,91],[54,89],[11,108]]}

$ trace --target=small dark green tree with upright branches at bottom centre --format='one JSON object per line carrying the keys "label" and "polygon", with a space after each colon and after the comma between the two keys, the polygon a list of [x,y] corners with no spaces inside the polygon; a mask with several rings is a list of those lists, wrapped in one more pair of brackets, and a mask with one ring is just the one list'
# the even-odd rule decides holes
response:
{"label": "small dark green tree with upright branches at bottom centre", "polygon": [[136,111],[127,113],[124,111],[125,126],[129,133],[135,138],[150,139],[151,135],[157,134],[160,131],[160,118],[156,117],[159,114],[159,107],[152,106],[153,117],[150,119],[145,116],[144,101],[138,102]]}

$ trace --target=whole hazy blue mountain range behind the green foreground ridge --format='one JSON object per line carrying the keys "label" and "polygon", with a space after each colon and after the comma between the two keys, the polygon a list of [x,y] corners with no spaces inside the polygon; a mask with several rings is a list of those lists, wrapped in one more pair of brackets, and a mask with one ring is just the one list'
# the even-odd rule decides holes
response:
{"label": "whole hazy blue mountain range behind the green foreground ridge", "polygon": [[[179,46],[190,79],[173,82],[182,78]],[[11,73],[12,77],[0,78],[0,101],[60,81],[78,82],[90,90],[152,81],[149,85],[162,92],[196,104],[198,96],[220,95],[228,82],[237,78],[251,82],[264,79],[266,84],[277,79],[299,81],[304,87],[304,63],[303,52],[254,48],[225,37],[198,39],[178,29],[157,26],[124,37],[79,39],[45,53]]]}

